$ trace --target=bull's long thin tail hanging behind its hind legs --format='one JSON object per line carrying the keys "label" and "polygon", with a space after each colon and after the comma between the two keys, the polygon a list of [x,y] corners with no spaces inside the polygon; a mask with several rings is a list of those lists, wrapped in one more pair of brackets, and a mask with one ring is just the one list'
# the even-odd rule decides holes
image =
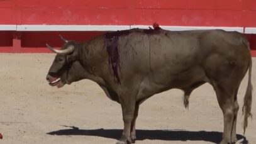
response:
{"label": "bull's long thin tail hanging behind its hind legs", "polygon": [[245,135],[245,130],[248,126],[248,118],[252,118],[252,56],[250,53],[250,47],[248,42],[245,43],[248,48],[248,53],[249,53],[249,68],[248,68],[248,85],[247,85],[247,90],[245,93],[245,97],[243,98],[243,114],[244,114],[244,120],[243,120],[243,135]]}

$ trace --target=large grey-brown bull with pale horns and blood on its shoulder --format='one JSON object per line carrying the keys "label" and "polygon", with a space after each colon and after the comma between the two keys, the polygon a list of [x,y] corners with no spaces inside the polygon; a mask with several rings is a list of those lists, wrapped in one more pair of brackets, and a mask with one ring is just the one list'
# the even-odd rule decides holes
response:
{"label": "large grey-brown bull with pale horns and blood on its shoulder", "polygon": [[189,95],[202,84],[213,86],[224,117],[221,144],[237,141],[237,92],[248,70],[243,128],[252,116],[252,58],[245,36],[223,30],[125,30],[105,33],[88,42],[65,41],[47,75],[51,86],[62,87],[81,79],[99,84],[121,104],[124,129],[121,143],[134,143],[140,104],[172,88]]}

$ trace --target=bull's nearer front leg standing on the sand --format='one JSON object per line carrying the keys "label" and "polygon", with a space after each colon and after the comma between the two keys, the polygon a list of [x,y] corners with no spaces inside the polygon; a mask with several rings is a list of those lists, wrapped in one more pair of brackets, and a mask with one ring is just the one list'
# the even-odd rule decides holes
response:
{"label": "bull's nearer front leg standing on the sand", "polygon": [[120,99],[120,104],[123,112],[124,129],[120,140],[116,144],[131,143],[131,121],[133,120],[135,112],[135,100],[124,97],[125,100]]}

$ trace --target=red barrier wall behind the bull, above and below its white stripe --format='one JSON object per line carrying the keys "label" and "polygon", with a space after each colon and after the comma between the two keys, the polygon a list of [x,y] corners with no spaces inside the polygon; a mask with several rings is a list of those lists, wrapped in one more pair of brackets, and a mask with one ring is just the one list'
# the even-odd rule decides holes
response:
{"label": "red barrier wall behind the bull, above and below its white stripe", "polygon": [[[256,27],[255,0],[8,0],[0,25],[160,25]],[[58,34],[77,41],[101,32],[0,31],[0,52],[49,52]],[[248,35],[256,50],[256,37]],[[254,53],[254,52],[253,52]]]}

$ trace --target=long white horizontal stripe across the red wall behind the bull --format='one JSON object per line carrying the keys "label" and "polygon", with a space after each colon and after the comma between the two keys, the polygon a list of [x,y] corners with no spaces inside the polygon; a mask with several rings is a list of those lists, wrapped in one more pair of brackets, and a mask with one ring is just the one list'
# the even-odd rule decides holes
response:
{"label": "long white horizontal stripe across the red wall behind the bull", "polygon": [[[0,25],[0,31],[116,31],[131,28],[148,29],[150,25]],[[152,28],[152,26],[150,26]],[[160,26],[164,30],[213,30],[238,31],[240,33],[256,33],[256,28],[225,26]]]}

